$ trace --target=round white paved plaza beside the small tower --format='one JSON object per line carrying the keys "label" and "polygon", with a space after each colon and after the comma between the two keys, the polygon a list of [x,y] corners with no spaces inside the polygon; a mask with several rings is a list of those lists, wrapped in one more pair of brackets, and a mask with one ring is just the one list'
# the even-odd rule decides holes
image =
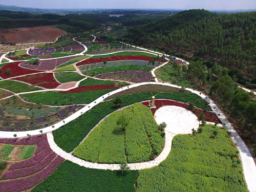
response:
{"label": "round white paved plaza beside the small tower", "polygon": [[162,106],[156,111],[155,119],[158,124],[165,122],[165,131],[174,134],[192,133],[199,126],[197,116],[180,106]]}

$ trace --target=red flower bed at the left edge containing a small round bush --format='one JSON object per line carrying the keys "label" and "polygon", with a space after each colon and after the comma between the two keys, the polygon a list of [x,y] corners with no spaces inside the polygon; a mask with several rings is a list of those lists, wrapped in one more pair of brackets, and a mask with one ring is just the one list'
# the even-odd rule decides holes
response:
{"label": "red flower bed at the left edge containing a small round bush", "polygon": [[[0,76],[3,79],[6,79],[6,78],[10,78],[10,77],[16,77],[16,76],[20,76],[20,75],[27,75],[27,74],[31,74],[31,73],[40,72],[37,70],[30,70],[30,69],[24,69],[22,67],[19,67],[18,65],[21,62],[23,62],[23,61],[14,62],[14,65],[13,65],[13,63],[9,63],[8,65],[2,67],[1,69],[3,70],[3,73],[0,73]],[[6,74],[5,73],[6,69],[10,69],[11,71],[8,74]]]}

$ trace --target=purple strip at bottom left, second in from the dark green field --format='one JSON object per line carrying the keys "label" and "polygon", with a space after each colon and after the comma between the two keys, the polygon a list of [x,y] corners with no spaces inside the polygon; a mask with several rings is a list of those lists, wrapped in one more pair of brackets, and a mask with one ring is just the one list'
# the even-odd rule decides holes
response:
{"label": "purple strip at bottom left, second in from the dark green field", "polygon": [[35,174],[36,172],[44,169],[54,159],[54,157],[56,157],[56,155],[56,153],[52,152],[49,156],[47,156],[44,160],[42,160],[35,166],[15,169],[11,170],[10,172],[6,172],[0,180],[15,179],[18,177],[26,177]]}

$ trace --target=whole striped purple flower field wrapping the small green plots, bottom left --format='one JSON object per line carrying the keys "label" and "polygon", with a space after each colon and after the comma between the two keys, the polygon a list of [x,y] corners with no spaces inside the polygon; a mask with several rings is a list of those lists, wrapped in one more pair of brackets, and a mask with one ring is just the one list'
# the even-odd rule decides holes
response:
{"label": "whole striped purple flower field wrapping the small green plots, bottom left", "polygon": [[32,158],[12,164],[0,178],[0,191],[29,189],[51,175],[64,160],[51,150],[45,134],[22,139],[0,139],[0,143],[37,145]]}

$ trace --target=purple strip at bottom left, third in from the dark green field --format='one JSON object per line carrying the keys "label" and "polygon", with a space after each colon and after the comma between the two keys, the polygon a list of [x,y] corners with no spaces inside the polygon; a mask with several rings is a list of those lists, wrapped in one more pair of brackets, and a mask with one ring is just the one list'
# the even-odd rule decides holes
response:
{"label": "purple strip at bottom left, third in from the dark green field", "polygon": [[36,154],[35,156],[28,160],[12,164],[9,170],[34,166],[40,163],[43,159],[45,159],[50,153],[52,153],[52,149],[48,147],[46,150]]}

